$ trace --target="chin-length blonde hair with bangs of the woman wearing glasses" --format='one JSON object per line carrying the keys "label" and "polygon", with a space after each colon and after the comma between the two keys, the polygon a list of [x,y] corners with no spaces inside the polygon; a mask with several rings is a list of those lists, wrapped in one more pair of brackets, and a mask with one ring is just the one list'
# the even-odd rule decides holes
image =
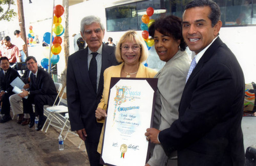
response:
{"label": "chin-length blonde hair with bangs of the woman wearing glasses", "polygon": [[118,62],[123,62],[123,59],[121,56],[122,43],[125,41],[133,41],[133,40],[135,40],[136,43],[141,46],[139,62],[142,63],[147,59],[148,50],[147,50],[147,46],[146,46],[144,39],[136,31],[130,30],[130,31],[125,32],[123,34],[123,36],[120,38],[119,42],[117,43],[115,54],[116,54],[116,60]]}

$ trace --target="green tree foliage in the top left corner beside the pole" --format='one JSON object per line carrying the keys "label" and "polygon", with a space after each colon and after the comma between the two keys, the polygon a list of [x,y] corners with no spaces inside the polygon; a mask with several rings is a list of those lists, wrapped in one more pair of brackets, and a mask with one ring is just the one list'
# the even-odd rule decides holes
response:
{"label": "green tree foliage in the top left corner beside the pole", "polygon": [[17,13],[10,9],[11,5],[15,5],[14,0],[0,0],[0,14],[2,14],[0,15],[0,20],[10,21],[12,17],[17,16]]}

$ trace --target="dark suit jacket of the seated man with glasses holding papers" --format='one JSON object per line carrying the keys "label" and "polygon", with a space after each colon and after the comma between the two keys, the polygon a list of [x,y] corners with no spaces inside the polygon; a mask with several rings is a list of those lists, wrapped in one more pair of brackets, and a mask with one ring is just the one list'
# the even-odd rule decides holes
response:
{"label": "dark suit jacket of the seated man with glasses holding papers", "polygon": [[57,90],[51,75],[40,67],[37,69],[36,80],[33,75],[33,73],[30,75],[30,96],[34,96],[36,94],[47,95],[48,105],[53,105],[57,97]]}

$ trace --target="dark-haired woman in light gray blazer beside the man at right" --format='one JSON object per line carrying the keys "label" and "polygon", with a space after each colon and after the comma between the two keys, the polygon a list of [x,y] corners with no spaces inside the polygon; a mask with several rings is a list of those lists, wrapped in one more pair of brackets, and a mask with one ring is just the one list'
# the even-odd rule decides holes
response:
{"label": "dark-haired woman in light gray blazer beside the man at right", "polygon": [[[163,130],[169,128],[178,118],[180,99],[191,59],[185,52],[186,43],[182,37],[182,22],[179,17],[161,17],[148,31],[155,40],[155,50],[159,58],[166,62],[155,76],[158,83],[153,127]],[[171,157],[168,165],[177,165],[177,152]],[[158,144],[146,165],[166,165],[167,158],[163,148]]]}

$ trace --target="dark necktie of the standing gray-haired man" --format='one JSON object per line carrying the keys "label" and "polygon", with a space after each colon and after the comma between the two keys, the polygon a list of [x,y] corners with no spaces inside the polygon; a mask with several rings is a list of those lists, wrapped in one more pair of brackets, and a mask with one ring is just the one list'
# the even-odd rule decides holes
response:
{"label": "dark necktie of the standing gray-haired man", "polygon": [[96,61],[96,56],[98,53],[92,53],[93,58],[90,62],[89,65],[89,77],[91,80],[91,83],[93,85],[93,89],[95,92],[97,92],[97,61]]}

